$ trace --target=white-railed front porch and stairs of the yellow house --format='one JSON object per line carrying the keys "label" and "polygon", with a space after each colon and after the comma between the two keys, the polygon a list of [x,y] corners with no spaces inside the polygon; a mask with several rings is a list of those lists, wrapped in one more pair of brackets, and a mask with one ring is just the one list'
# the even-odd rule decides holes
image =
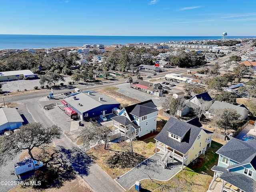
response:
{"label": "white-railed front porch and stairs of the yellow house", "polygon": [[184,165],[188,165],[188,163],[185,163],[188,160],[188,154],[181,154],[180,152],[174,150],[173,148],[170,148],[169,146],[159,141],[156,141],[156,153],[157,149],[164,153],[164,156],[162,158],[163,162],[166,162],[166,159],[171,157],[172,163],[174,162],[174,159],[182,163],[182,169]]}

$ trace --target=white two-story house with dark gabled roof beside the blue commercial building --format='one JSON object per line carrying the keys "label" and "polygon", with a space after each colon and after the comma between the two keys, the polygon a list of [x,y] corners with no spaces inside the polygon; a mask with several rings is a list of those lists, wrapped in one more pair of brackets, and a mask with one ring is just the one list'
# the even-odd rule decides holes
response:
{"label": "white two-story house with dark gabled roof beside the blue commercial building", "polygon": [[156,130],[158,110],[152,100],[122,108],[118,116],[112,117],[113,127],[118,128],[126,136],[135,132],[136,137],[144,136]]}

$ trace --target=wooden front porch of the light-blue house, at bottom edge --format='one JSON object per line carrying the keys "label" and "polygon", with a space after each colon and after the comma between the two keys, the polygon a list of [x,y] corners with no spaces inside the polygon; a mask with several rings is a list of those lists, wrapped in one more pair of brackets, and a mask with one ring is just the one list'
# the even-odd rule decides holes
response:
{"label": "wooden front porch of the light-blue house, at bottom edge", "polygon": [[243,190],[238,189],[236,186],[215,177],[210,186],[209,192],[244,192]]}

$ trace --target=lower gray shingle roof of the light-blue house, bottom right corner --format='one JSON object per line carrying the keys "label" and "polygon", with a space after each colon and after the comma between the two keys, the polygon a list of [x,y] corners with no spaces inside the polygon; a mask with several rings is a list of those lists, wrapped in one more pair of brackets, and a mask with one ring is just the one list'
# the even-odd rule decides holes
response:
{"label": "lower gray shingle roof of the light-blue house, bottom right corner", "polygon": [[236,172],[223,172],[220,178],[243,191],[254,192],[253,186],[256,182],[244,174]]}

